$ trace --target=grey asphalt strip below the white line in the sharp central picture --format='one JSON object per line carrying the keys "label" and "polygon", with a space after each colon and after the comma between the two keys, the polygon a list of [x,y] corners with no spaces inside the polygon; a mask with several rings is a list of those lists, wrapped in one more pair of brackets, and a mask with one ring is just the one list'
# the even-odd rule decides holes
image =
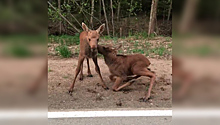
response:
{"label": "grey asphalt strip below the white line in the sharp central picture", "polygon": [[48,119],[48,125],[170,125],[172,117],[93,117]]}

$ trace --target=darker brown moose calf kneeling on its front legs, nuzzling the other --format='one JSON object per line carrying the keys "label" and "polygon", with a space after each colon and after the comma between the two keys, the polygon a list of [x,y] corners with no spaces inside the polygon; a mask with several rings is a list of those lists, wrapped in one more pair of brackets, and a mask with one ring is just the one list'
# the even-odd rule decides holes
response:
{"label": "darker brown moose calf kneeling on its front legs, nuzzling the other", "polygon": [[[131,85],[128,82],[131,79],[139,78],[140,76],[148,76],[151,78],[150,87],[148,92],[145,93],[145,97],[141,98],[142,101],[147,101],[150,98],[151,90],[156,79],[156,75],[150,71],[147,67],[151,64],[150,61],[141,54],[134,55],[116,55],[117,50],[112,47],[105,47],[98,45],[98,52],[104,56],[106,65],[109,68],[111,75],[109,78],[115,82],[112,86],[113,91],[119,91],[120,89]],[[135,77],[129,77],[136,75]],[[121,86],[120,83],[127,82]]]}

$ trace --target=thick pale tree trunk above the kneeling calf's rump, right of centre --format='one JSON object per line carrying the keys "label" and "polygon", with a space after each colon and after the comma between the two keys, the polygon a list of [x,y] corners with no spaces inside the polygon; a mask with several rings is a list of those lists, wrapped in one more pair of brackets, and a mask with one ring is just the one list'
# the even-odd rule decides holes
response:
{"label": "thick pale tree trunk above the kneeling calf's rump, right of centre", "polygon": [[155,24],[157,18],[157,4],[158,4],[158,0],[152,0],[148,35],[151,35],[155,32]]}

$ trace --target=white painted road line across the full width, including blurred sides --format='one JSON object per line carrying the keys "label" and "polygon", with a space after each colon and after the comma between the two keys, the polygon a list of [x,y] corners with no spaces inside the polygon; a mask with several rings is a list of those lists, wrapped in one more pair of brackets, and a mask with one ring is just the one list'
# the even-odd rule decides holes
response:
{"label": "white painted road line across the full width, including blurred sides", "polygon": [[174,116],[174,118],[220,117],[220,109],[164,109],[164,110],[99,110],[47,112],[47,110],[1,111],[0,119],[79,118],[79,117],[141,117]]}

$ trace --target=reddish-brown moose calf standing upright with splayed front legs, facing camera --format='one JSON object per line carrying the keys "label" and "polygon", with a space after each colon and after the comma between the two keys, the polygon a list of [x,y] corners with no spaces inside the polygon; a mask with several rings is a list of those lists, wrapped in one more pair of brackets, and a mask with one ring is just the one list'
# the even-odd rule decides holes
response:
{"label": "reddish-brown moose calf standing upright with splayed front legs, facing camera", "polygon": [[94,64],[95,64],[95,70],[98,73],[101,85],[104,89],[108,89],[108,87],[105,85],[102,75],[98,66],[97,62],[97,46],[100,34],[105,29],[105,24],[102,24],[97,30],[90,30],[84,23],[82,23],[83,32],[80,33],[80,53],[79,53],[79,59],[78,59],[78,65],[76,68],[75,76],[73,79],[73,83],[71,84],[69,88],[69,93],[71,94],[73,92],[74,84],[76,82],[76,78],[81,71],[80,74],[80,80],[83,80],[83,61],[86,58],[87,65],[88,65],[88,77],[92,77],[90,67],[89,67],[89,58],[92,58]]}

